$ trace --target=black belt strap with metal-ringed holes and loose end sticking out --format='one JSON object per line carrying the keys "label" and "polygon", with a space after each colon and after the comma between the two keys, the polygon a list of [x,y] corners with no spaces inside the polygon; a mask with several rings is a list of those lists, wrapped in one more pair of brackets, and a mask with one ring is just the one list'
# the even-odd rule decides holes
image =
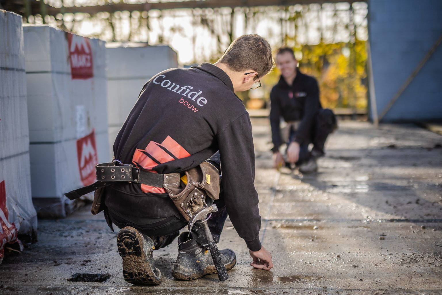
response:
{"label": "black belt strap with metal-ringed holes and loose end sticking out", "polygon": [[163,188],[164,174],[141,170],[132,165],[122,164],[119,161],[101,163],[95,165],[97,182],[83,188],[73,190],[65,194],[68,199],[78,199],[99,188],[103,188],[115,182],[128,182],[147,184],[157,188]]}

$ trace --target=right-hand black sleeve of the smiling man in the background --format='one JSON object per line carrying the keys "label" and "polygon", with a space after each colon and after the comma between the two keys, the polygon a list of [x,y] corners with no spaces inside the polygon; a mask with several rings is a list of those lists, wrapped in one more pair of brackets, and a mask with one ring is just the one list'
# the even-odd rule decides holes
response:
{"label": "right-hand black sleeve of the smiling man in the background", "polygon": [[312,127],[313,120],[320,106],[319,103],[319,88],[316,79],[312,78],[307,87],[307,96],[305,97],[304,117],[301,120],[301,124],[296,130],[294,141],[302,144],[309,139],[310,129]]}

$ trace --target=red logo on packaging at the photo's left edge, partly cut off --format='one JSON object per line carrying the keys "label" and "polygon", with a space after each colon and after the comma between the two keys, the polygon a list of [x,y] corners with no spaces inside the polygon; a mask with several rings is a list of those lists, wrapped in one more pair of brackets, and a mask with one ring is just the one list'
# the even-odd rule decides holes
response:
{"label": "red logo on packaging at the photo's left edge, partly cut off", "polygon": [[4,255],[4,245],[15,243],[17,240],[17,229],[14,222],[8,221],[8,209],[6,208],[6,189],[4,180],[0,182],[0,262]]}

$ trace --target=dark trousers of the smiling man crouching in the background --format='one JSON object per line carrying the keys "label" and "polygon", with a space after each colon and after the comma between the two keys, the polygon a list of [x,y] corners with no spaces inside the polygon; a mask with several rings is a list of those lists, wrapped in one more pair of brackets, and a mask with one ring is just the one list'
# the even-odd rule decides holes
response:
{"label": "dark trousers of the smiling man crouching in the background", "polygon": [[[314,120],[308,141],[301,143],[299,150],[299,160],[296,165],[301,165],[309,161],[311,157],[321,157],[324,155],[324,145],[327,137],[337,127],[336,117],[330,109],[320,109],[318,115]],[[293,141],[296,135],[296,130],[292,126],[289,133],[289,143]],[[313,148],[309,150],[309,144],[313,144]],[[288,144],[287,144],[288,146]]]}

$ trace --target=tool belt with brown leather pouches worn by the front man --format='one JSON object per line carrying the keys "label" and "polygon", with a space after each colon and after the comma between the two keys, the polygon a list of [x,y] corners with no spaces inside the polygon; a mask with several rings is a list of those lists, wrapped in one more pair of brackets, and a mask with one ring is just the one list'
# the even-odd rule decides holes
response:
{"label": "tool belt with brown leather pouches worn by the front man", "polygon": [[118,160],[95,165],[95,172],[97,175],[95,183],[65,194],[68,199],[74,200],[95,191],[91,209],[94,215],[104,209],[104,188],[116,182],[146,184],[166,189],[187,221],[194,212],[206,205],[206,196],[214,200],[219,199],[219,172],[209,162],[202,162],[199,166],[187,170],[185,172],[187,184],[180,180],[180,173],[154,173],[122,164]]}

